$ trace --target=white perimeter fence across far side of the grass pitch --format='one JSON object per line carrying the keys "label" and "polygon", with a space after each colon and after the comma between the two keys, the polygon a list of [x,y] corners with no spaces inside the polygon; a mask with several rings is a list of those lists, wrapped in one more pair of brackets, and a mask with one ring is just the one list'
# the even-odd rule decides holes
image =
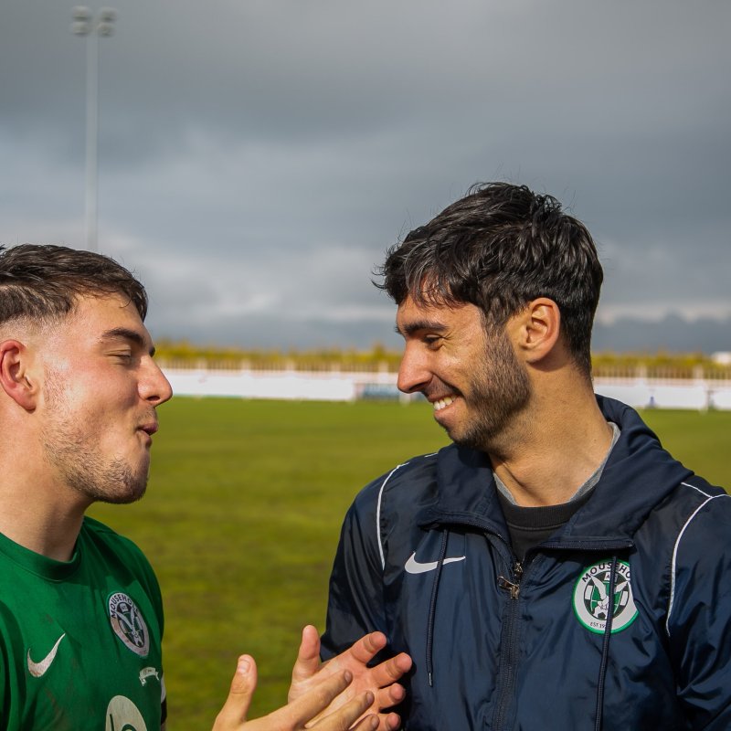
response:
{"label": "white perimeter fence across far side of the grass pitch", "polygon": [[[180,396],[403,402],[414,398],[400,393],[396,374],[388,372],[163,369]],[[597,378],[594,390],[635,408],[731,409],[731,379]]]}

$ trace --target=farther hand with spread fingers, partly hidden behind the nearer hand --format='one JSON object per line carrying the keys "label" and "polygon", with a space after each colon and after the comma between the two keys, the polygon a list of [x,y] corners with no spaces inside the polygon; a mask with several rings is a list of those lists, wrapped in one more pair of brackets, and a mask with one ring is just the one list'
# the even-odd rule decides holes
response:
{"label": "farther hand with spread fingers, partly hidden behind the nearer hand", "polygon": [[300,652],[291,672],[290,701],[307,693],[314,684],[322,683],[324,678],[347,671],[353,674],[353,682],[328,706],[328,712],[332,713],[364,691],[370,692],[374,700],[368,711],[378,715],[377,728],[379,731],[395,731],[401,723],[398,715],[381,711],[399,704],[406,696],[406,691],[396,681],[411,669],[411,658],[406,652],[401,652],[375,667],[368,667],[367,663],[386,644],[383,632],[371,632],[332,660],[320,662],[320,637],[317,630],[308,625],[302,630]]}

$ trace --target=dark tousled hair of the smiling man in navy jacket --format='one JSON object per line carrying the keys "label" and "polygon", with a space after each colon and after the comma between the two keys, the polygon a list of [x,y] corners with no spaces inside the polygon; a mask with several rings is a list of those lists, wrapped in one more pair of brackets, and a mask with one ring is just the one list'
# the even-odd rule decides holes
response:
{"label": "dark tousled hair of the smiling man in navy jacket", "polygon": [[473,185],[387,251],[376,283],[400,304],[469,302],[503,326],[537,297],[558,305],[578,367],[591,373],[591,327],[603,272],[588,229],[553,196],[524,185]]}

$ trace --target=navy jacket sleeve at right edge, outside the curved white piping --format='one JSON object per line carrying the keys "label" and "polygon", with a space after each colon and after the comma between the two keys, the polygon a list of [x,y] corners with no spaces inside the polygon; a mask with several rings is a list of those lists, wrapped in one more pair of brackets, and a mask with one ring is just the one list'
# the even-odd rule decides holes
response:
{"label": "navy jacket sleeve at right edge, outside the curved white piping", "polygon": [[668,615],[678,698],[690,728],[731,728],[731,498],[708,496],[673,554]]}

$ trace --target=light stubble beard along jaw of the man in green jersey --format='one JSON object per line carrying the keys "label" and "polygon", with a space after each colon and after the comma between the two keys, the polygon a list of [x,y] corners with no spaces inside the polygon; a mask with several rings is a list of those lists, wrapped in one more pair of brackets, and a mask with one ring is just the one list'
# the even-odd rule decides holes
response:
{"label": "light stubble beard along jaw of the man in green jersey", "polygon": [[48,461],[56,467],[61,479],[70,488],[87,497],[90,503],[135,503],[147,489],[148,467],[137,471],[121,457],[104,459],[100,437],[84,430],[84,425],[69,413],[67,401],[58,380],[49,378],[46,385],[49,413],[57,415],[43,429],[43,446]]}

